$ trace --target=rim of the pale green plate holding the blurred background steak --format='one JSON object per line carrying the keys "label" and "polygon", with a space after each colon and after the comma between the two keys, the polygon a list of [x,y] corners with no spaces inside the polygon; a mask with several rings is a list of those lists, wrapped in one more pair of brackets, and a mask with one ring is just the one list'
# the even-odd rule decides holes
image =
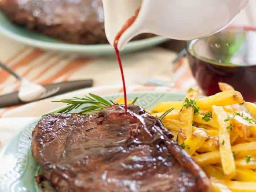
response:
{"label": "rim of the pale green plate holding the blurred background steak", "polygon": [[[27,30],[25,27],[15,25],[0,11],[0,32],[18,42],[47,50],[71,52],[84,55],[108,55],[114,54],[110,44],[80,45],[58,41],[40,33]],[[151,37],[138,41],[129,42],[122,53],[134,52],[149,48],[167,41],[164,37]]]}

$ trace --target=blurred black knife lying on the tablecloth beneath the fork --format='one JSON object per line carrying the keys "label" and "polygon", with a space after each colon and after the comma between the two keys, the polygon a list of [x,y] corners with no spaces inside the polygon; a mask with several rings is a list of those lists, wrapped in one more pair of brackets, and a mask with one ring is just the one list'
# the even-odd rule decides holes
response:
{"label": "blurred black knife lying on the tablecloth beneath the fork", "polygon": [[[50,91],[50,90],[56,90],[56,91],[40,99],[64,94],[66,92],[70,92],[70,91],[74,91],[74,90],[78,90],[86,87],[91,87],[92,84],[93,84],[92,79],[86,79],[86,80],[66,81],[66,82],[43,85],[43,87],[46,88],[46,91]],[[18,98],[18,91],[15,91],[6,95],[0,95],[0,108],[10,107],[13,105],[20,105],[24,103],[25,102],[22,102]]]}

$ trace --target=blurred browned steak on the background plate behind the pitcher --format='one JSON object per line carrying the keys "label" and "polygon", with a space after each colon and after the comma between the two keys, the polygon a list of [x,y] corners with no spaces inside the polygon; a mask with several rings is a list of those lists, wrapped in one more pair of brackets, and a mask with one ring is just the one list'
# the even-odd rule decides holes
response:
{"label": "blurred browned steak on the background plate behind the pitcher", "polygon": [[0,9],[12,22],[63,41],[107,43],[102,0],[1,0]]}

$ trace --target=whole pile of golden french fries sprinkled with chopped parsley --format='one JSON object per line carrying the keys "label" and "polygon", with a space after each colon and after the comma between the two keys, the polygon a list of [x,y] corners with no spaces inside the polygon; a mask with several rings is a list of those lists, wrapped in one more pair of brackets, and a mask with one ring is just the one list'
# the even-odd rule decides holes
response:
{"label": "whole pile of golden french fries sprinkled with chopped parsley", "polygon": [[151,114],[174,108],[162,122],[210,177],[214,191],[256,191],[256,105],[228,84],[219,87],[222,92],[204,98],[190,89],[184,101],[161,102]]}

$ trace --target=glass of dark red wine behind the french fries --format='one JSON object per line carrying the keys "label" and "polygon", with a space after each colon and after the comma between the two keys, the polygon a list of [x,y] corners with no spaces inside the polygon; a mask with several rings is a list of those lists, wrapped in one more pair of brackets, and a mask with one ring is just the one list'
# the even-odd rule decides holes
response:
{"label": "glass of dark red wine behind the french fries", "polygon": [[205,95],[220,92],[218,82],[232,85],[245,101],[256,102],[256,28],[229,27],[188,42],[187,58]]}

